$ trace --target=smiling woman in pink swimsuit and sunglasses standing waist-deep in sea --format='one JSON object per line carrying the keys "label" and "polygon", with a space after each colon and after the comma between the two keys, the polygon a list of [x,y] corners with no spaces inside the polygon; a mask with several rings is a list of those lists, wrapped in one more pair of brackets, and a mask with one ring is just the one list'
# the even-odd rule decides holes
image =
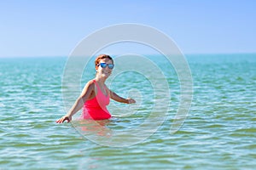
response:
{"label": "smiling woman in pink swimsuit and sunglasses standing waist-deep in sea", "polygon": [[114,66],[113,59],[109,55],[99,55],[95,60],[95,65],[95,79],[87,82],[73,107],[65,116],[62,116],[59,120],[57,120],[57,123],[62,123],[65,121],[70,122],[72,120],[72,116],[76,114],[82,107],[84,107],[82,114],[83,119],[109,119],[111,117],[107,109],[109,98],[125,104],[136,103],[134,99],[124,99],[120,97],[106,86],[105,82],[111,75]]}

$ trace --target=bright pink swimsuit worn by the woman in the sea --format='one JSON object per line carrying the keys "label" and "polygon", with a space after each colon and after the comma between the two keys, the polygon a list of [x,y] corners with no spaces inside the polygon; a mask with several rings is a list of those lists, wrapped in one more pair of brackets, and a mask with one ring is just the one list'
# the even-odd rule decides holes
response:
{"label": "bright pink swimsuit worn by the woman in the sea", "polygon": [[93,80],[96,85],[96,96],[84,102],[83,119],[102,120],[111,117],[108,112],[107,105],[109,104],[109,94],[106,96],[102,93],[101,88],[96,80]]}

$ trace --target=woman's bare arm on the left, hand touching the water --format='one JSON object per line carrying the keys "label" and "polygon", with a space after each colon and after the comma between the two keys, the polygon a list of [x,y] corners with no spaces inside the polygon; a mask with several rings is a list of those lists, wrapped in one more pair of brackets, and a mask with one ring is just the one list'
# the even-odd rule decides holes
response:
{"label": "woman's bare arm on the left, hand touching the water", "polygon": [[92,81],[87,82],[79,98],[75,101],[72,108],[67,112],[65,116],[62,116],[56,121],[56,123],[70,122],[72,116],[76,114],[84,105],[84,102],[90,98],[90,94],[94,91],[94,83]]}

